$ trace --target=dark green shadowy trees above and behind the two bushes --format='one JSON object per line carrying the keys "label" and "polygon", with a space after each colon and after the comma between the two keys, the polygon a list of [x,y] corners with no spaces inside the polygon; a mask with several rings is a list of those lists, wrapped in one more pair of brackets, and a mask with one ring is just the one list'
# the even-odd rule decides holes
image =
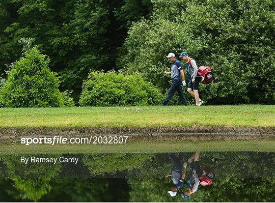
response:
{"label": "dark green shadowy trees above and behind the two bushes", "polygon": [[147,16],[149,0],[2,0],[0,1],[0,74],[20,57],[17,41],[33,37],[61,75],[63,90],[77,99],[91,68],[116,68],[131,21]]}

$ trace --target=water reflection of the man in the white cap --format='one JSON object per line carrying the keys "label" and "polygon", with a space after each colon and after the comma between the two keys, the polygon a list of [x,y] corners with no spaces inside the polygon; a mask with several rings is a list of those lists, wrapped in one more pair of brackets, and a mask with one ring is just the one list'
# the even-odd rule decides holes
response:
{"label": "water reflection of the man in the white cap", "polygon": [[171,191],[168,191],[168,193],[173,197],[176,196],[178,189],[180,189],[183,186],[185,172],[186,172],[186,166],[187,163],[183,162],[183,153],[179,153],[179,156],[176,157],[175,153],[169,153],[168,154],[169,159],[171,160],[173,164],[173,170],[172,175],[166,175],[165,177],[172,177],[173,179],[173,187],[171,188]]}

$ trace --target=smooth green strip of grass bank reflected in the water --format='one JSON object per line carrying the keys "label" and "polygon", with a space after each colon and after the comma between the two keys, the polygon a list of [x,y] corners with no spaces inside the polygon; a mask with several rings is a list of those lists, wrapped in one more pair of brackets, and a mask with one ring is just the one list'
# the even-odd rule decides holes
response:
{"label": "smooth green strip of grass bank reflected in the water", "polygon": [[135,141],[126,144],[1,144],[0,154],[78,154],[78,153],[157,153],[157,152],[194,152],[198,151],[263,151],[273,152],[275,141],[272,140],[228,140],[228,141]]}

